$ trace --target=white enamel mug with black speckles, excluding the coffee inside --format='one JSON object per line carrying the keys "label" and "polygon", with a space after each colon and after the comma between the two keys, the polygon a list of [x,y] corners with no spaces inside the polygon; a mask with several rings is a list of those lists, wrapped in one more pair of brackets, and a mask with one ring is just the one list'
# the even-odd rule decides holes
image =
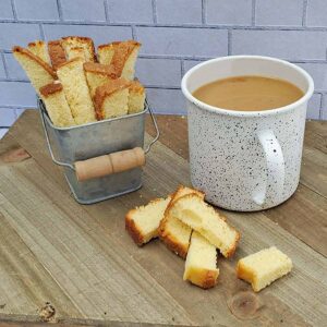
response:
{"label": "white enamel mug with black speckles, excluding the coffee inside", "polygon": [[[286,80],[304,93],[298,101],[267,111],[233,111],[192,96],[226,77],[259,75]],[[232,56],[208,60],[182,80],[187,101],[192,184],[219,207],[255,211],[277,206],[296,190],[312,77],[283,60]]]}

